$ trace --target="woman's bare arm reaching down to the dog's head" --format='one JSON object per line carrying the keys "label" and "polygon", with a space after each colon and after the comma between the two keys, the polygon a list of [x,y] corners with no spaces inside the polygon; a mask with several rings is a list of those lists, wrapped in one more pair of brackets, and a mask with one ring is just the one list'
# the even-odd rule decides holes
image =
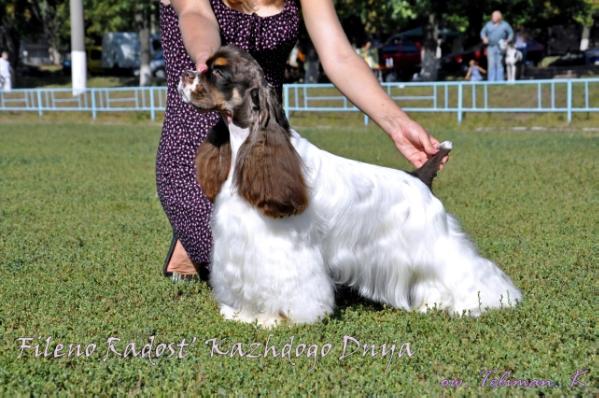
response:
{"label": "woman's bare arm reaching down to the dog's head", "polygon": [[179,26],[187,53],[203,70],[206,60],[220,47],[218,22],[209,0],[171,0],[179,15]]}

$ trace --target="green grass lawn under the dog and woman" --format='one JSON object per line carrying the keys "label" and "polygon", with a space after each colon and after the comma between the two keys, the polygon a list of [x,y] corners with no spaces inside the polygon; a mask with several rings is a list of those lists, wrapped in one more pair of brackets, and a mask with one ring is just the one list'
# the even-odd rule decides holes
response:
{"label": "green grass lawn under the dog and woman", "polygon": [[[221,320],[205,283],[161,277],[170,229],[154,185],[159,127],[0,124],[0,396],[18,395],[487,395],[590,396],[597,370],[599,134],[434,129],[454,141],[436,193],[481,252],[524,292],[514,310],[479,319],[419,315],[344,297],[335,316],[266,331]],[[359,119],[356,119],[358,121]],[[346,119],[347,121],[347,119]],[[316,125],[309,120],[297,124]],[[347,123],[349,124],[349,123]],[[451,126],[452,124],[448,124]],[[306,127],[335,153],[406,168],[374,127]],[[384,210],[383,210],[384,211]],[[595,315],[593,315],[595,314]],[[109,356],[110,336],[138,345],[197,337],[183,359]],[[314,360],[210,357],[204,344],[331,343]],[[355,354],[344,336],[409,343],[413,356]],[[19,357],[19,337],[97,344],[89,358]],[[590,368],[584,388],[569,388]],[[482,388],[480,372],[509,370],[560,387]],[[461,379],[444,389],[444,379]]]}

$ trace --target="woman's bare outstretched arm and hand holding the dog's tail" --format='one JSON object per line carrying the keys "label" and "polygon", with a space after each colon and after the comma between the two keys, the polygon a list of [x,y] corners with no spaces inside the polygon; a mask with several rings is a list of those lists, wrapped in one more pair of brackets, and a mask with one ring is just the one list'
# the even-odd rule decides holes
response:
{"label": "woman's bare outstretched arm and hand holding the dog's tail", "polygon": [[306,28],[331,81],[370,116],[416,167],[437,152],[438,141],[389,98],[366,63],[354,52],[332,0],[301,0]]}

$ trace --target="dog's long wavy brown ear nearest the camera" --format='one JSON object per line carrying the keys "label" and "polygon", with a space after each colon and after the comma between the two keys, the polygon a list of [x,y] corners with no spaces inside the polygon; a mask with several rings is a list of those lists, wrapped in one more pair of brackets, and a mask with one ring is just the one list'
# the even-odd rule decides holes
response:
{"label": "dog's long wavy brown ear nearest the camera", "polygon": [[269,217],[299,214],[308,205],[308,189],[287,119],[271,86],[264,83],[250,90],[250,134],[238,152],[237,189]]}

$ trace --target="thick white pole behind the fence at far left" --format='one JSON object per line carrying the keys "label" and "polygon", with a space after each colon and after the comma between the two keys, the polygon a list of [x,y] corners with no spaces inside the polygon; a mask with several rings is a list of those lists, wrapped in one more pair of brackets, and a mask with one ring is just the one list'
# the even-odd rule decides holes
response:
{"label": "thick white pole behind the fence at far left", "polygon": [[87,60],[85,33],[83,31],[83,5],[81,0],[70,0],[71,7],[71,79],[73,95],[85,92],[87,86]]}

